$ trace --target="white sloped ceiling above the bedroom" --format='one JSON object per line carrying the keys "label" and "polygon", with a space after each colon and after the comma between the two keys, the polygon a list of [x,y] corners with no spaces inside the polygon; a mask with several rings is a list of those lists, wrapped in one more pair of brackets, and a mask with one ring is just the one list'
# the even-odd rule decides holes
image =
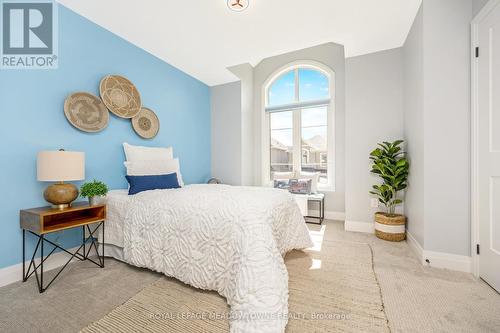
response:
{"label": "white sloped ceiling above the bedroom", "polygon": [[66,7],[213,86],[226,68],[335,42],[352,57],[401,46],[421,0],[58,0]]}

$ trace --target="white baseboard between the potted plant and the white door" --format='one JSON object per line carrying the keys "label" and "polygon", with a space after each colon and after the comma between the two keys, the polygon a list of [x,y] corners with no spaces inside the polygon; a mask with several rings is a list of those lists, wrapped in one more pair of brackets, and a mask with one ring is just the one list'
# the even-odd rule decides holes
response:
{"label": "white baseboard between the potted plant and the white door", "polygon": [[406,231],[406,241],[424,266],[465,273],[472,272],[472,258],[469,256],[424,250],[422,245],[408,231]]}

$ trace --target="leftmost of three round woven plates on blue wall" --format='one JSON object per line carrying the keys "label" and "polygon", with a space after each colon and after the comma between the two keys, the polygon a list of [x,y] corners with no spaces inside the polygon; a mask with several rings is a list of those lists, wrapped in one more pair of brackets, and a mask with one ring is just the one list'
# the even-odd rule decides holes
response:
{"label": "leftmost of three round woven plates on blue wall", "polygon": [[71,125],[84,132],[102,131],[109,122],[109,112],[99,97],[76,92],[64,101],[64,114]]}

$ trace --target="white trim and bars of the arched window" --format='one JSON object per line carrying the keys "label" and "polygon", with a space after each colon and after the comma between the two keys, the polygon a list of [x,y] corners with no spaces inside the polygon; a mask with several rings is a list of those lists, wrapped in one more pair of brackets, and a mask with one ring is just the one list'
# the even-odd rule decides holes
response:
{"label": "white trim and bars of the arched window", "polygon": [[[270,161],[270,135],[269,135],[269,125],[270,125],[270,120],[269,120],[269,112],[266,112],[266,106],[267,106],[267,99],[268,99],[268,88],[271,86],[274,81],[279,78],[281,75],[285,74],[286,72],[290,70],[295,70],[297,68],[310,68],[317,70],[324,74],[325,76],[328,77],[329,81],[329,90],[330,90],[330,98],[321,100],[321,101],[313,101],[313,102],[302,102],[302,103],[291,103],[287,104],[284,106],[280,107],[270,107],[268,110],[272,111],[285,111],[287,110],[294,110],[294,109],[300,109],[300,108],[305,108],[306,105],[311,106],[311,103],[324,103],[323,105],[326,105],[328,107],[327,109],[327,115],[328,115],[328,132],[327,132],[327,149],[328,149],[328,184],[320,184],[319,185],[319,190],[324,191],[324,192],[334,192],[335,191],[335,72],[325,64],[322,64],[317,61],[312,61],[312,60],[301,60],[301,61],[294,61],[291,62],[285,66],[282,66],[278,70],[276,70],[273,74],[271,74],[267,80],[264,82],[262,85],[262,91],[261,91],[261,112],[262,112],[262,121],[261,121],[261,161],[262,161],[262,169],[261,169],[261,182],[263,186],[269,186],[269,184],[272,183],[271,177],[270,177],[270,166],[271,166],[271,161]],[[295,72],[297,75],[297,72]],[[297,77],[295,78],[297,80]],[[298,89],[298,85],[295,86],[296,89]],[[295,92],[296,95],[298,96],[297,91]],[[298,116],[297,116],[298,115]],[[295,117],[298,117],[299,119],[296,119]],[[299,126],[296,126],[296,130],[294,131],[294,140],[300,140],[302,139],[300,137],[300,113],[294,112],[294,122],[299,124]],[[298,132],[298,133],[295,133]],[[293,152],[293,158],[294,158],[294,165],[297,163],[297,165],[300,165],[301,161],[301,147],[300,145],[294,145],[294,149],[297,150],[297,152],[294,150]]]}

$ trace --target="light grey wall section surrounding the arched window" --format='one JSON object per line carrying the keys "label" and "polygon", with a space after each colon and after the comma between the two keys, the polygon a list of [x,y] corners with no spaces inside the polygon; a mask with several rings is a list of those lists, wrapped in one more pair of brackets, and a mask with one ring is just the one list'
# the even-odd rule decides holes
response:
{"label": "light grey wall section surrounding the arched window", "polygon": [[335,191],[325,192],[325,210],[345,212],[345,55],[344,47],[327,43],[262,60],[254,68],[254,182],[262,184],[263,85],[283,66],[300,60],[320,62],[335,72]]}

